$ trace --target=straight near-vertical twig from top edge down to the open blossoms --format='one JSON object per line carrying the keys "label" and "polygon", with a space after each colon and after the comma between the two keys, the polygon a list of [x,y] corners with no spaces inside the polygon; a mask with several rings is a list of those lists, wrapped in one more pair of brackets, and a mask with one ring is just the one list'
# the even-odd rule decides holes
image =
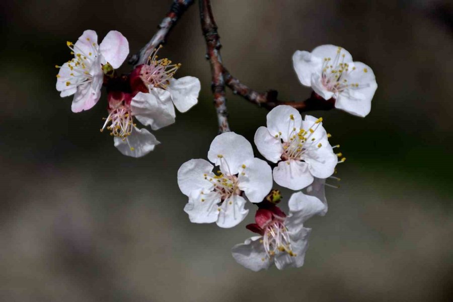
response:
{"label": "straight near-vertical twig from top edge down to the open blossoms", "polygon": [[217,111],[218,130],[220,133],[230,131],[228,111],[226,110],[225,82],[223,80],[223,65],[220,55],[220,37],[217,32],[209,0],[199,0],[201,29],[206,40],[206,55],[211,63],[214,105]]}

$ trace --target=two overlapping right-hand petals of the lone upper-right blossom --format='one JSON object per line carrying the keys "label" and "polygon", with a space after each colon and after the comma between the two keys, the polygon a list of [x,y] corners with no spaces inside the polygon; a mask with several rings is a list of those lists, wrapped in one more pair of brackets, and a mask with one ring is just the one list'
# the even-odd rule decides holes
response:
{"label": "two overlapping right-hand petals of the lone upper-right blossom", "polygon": [[[347,74],[349,84],[358,84],[357,88],[344,90],[335,101],[335,107],[350,114],[365,117],[371,110],[371,100],[378,89],[373,70],[366,64],[354,62],[355,70]],[[351,67],[350,67],[351,68]],[[365,72],[366,70],[366,72]]]}

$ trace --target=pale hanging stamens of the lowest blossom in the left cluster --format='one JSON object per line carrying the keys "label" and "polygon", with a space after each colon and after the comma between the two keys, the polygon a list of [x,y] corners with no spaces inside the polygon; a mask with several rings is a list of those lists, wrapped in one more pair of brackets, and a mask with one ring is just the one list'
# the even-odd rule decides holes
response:
{"label": "pale hanging stamens of the lowest blossom in the left cluster", "polygon": [[[109,124],[110,126],[108,126]],[[101,132],[107,128],[111,131],[110,135],[118,136],[125,140],[131,134],[133,126],[135,124],[133,123],[130,106],[120,105],[117,108],[110,109],[109,116],[106,118]]]}

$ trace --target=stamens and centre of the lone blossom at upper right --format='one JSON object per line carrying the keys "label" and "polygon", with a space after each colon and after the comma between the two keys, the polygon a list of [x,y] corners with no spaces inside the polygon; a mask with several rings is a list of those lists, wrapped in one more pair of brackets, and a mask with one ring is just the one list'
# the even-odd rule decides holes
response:
{"label": "stamens and centre of the lone blossom at upper right", "polygon": [[349,88],[358,88],[358,83],[348,83],[345,79],[347,75],[354,72],[354,66],[349,67],[348,63],[344,62],[345,54],[341,54],[341,47],[338,47],[337,55],[334,60],[332,58],[324,58],[322,71],[322,84],[330,92],[338,94]]}

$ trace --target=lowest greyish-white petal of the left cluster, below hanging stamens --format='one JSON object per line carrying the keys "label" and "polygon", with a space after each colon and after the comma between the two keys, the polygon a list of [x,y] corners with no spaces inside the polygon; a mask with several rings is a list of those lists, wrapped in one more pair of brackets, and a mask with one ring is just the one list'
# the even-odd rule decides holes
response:
{"label": "lowest greyish-white petal of the left cluster, below hanging stamens", "polygon": [[145,128],[138,129],[137,127],[132,128],[131,134],[125,140],[114,137],[113,141],[119,152],[134,158],[145,156],[153,151],[157,144],[160,144],[148,130]]}

